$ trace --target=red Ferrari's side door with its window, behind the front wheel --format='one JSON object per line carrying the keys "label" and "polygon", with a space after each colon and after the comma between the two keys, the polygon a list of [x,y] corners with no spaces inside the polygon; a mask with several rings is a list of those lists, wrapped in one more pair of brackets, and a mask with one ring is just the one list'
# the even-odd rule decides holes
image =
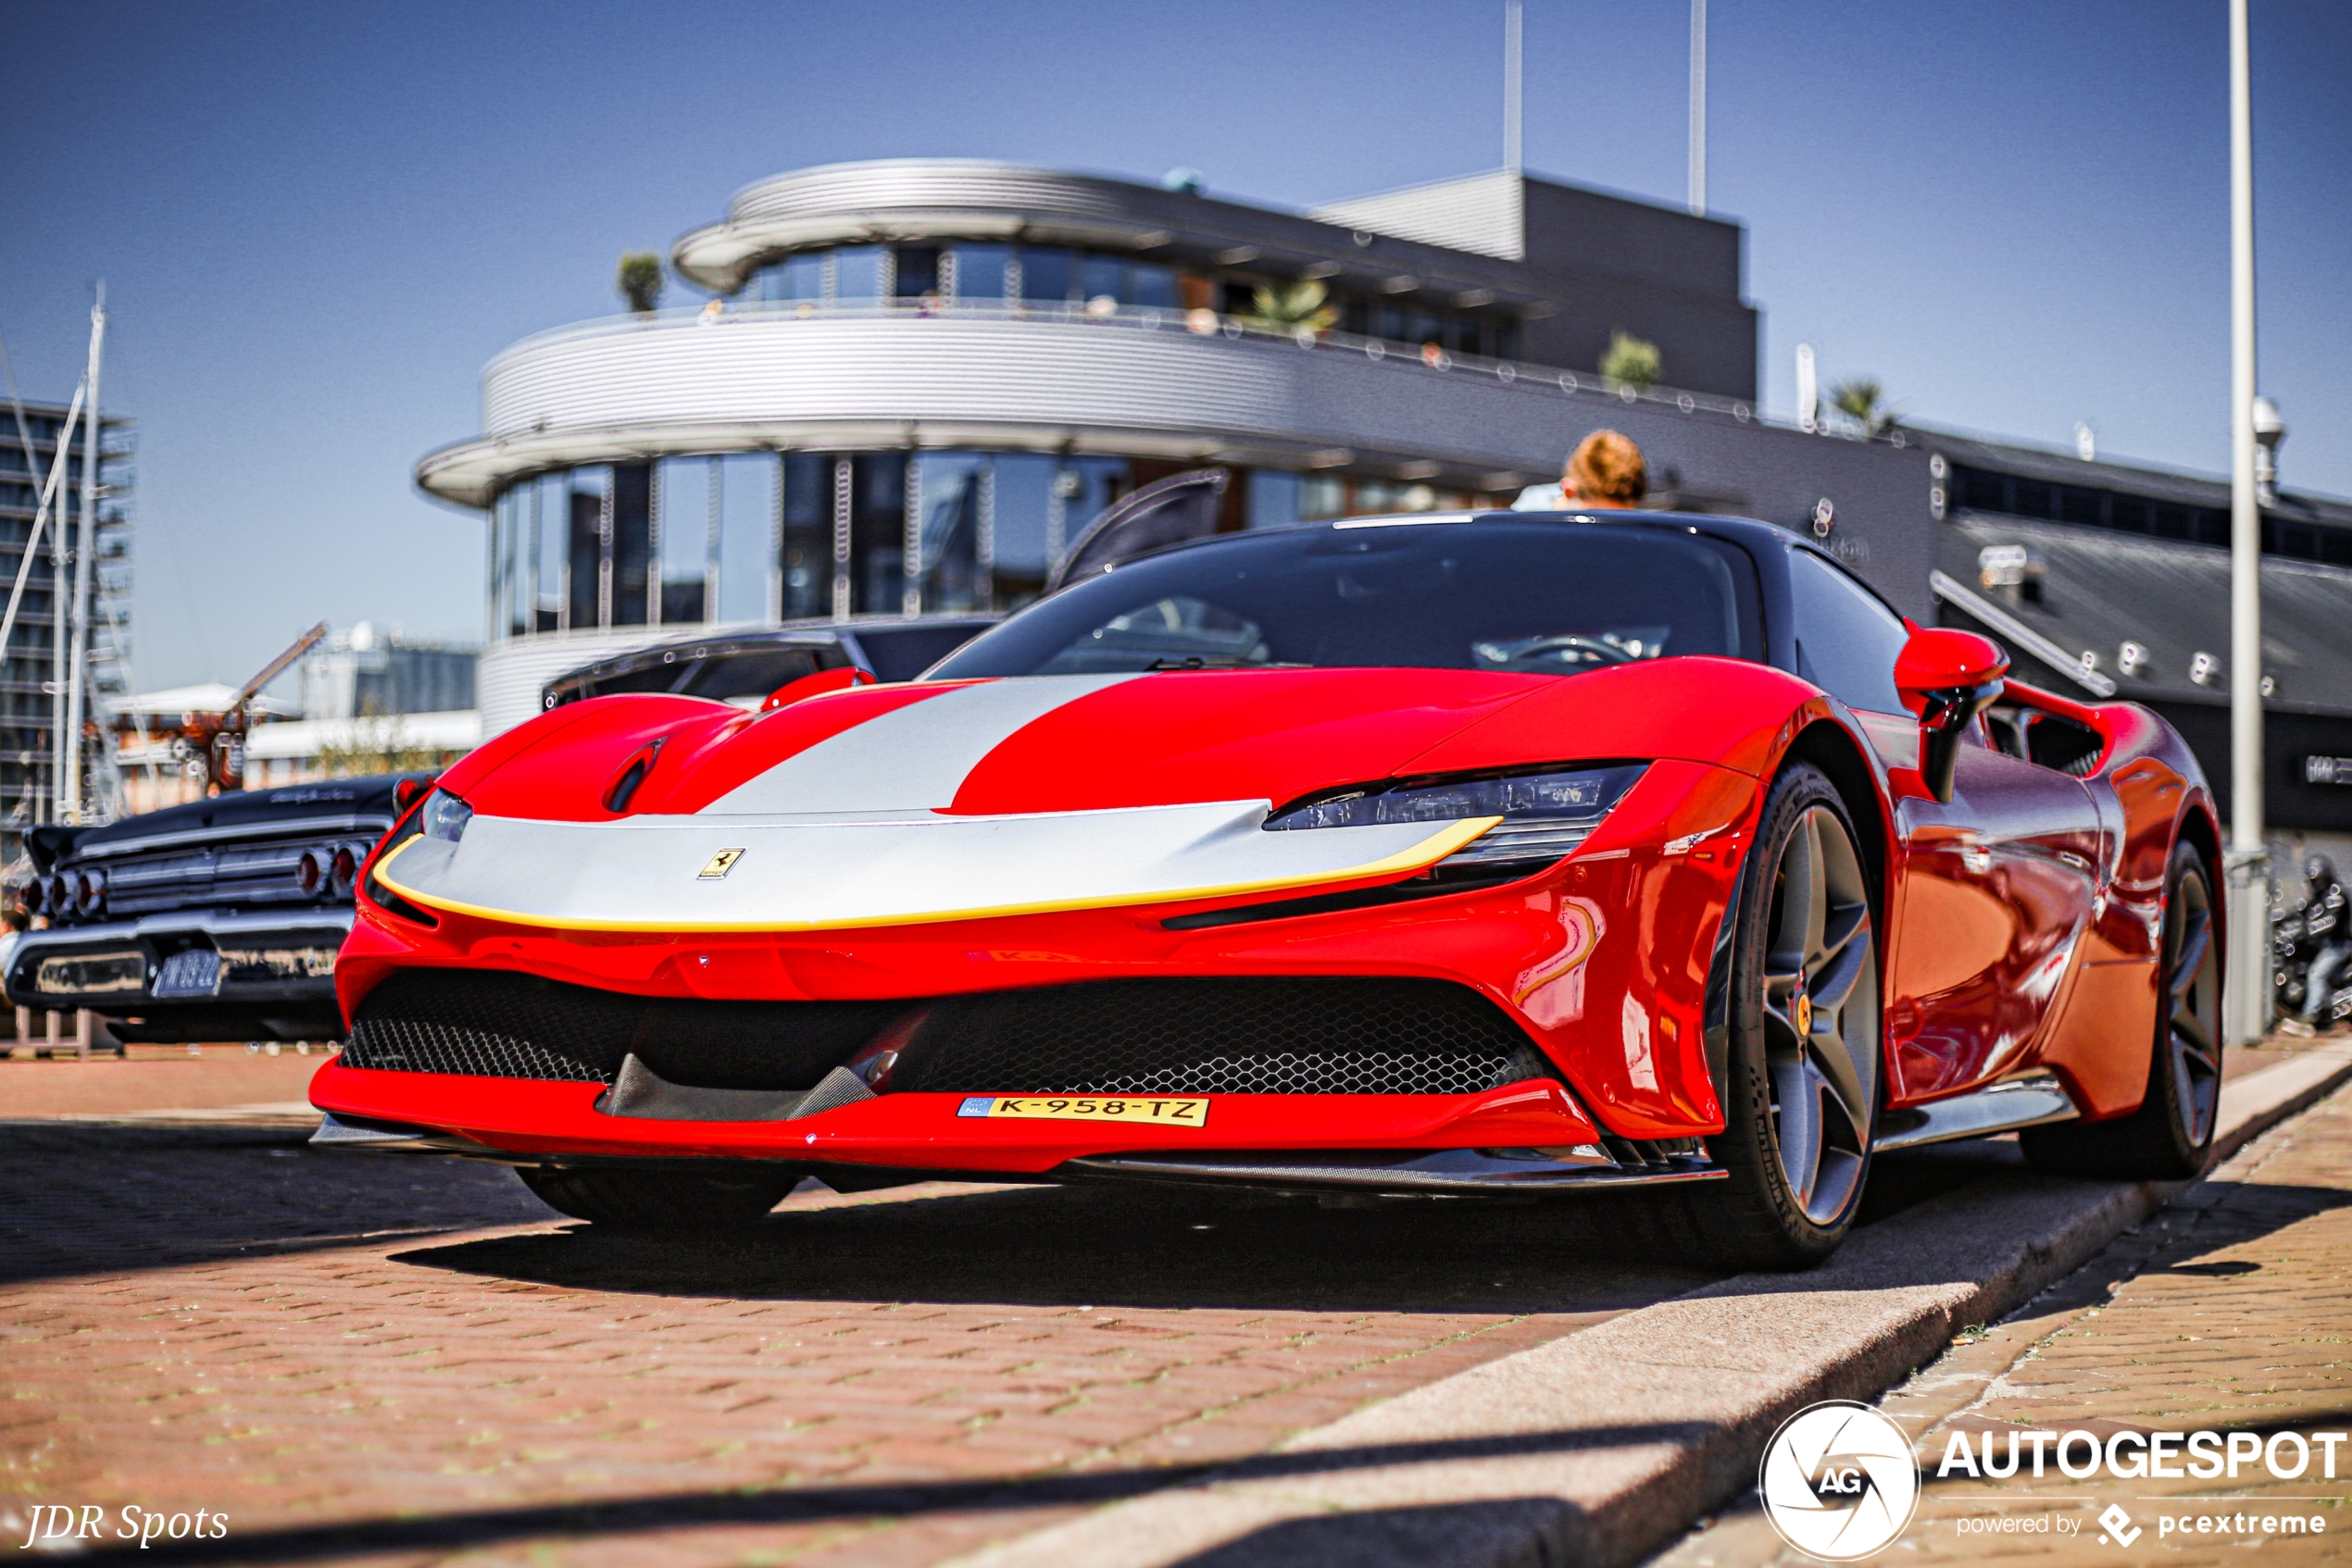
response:
{"label": "red Ferrari's side door with its window, behind the front wheel", "polygon": [[2032,1060],[2098,898],[2100,818],[2079,778],[1964,736],[1952,799],[1917,780],[1919,726],[1893,689],[1910,628],[1867,588],[1792,552],[1797,672],[1856,710],[1896,773],[1886,1032],[1903,1098]]}

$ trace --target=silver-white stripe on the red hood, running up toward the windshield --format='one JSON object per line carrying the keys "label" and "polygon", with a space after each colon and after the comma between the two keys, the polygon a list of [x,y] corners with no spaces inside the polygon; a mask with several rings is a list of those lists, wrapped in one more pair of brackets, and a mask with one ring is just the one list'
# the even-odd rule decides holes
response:
{"label": "silver-white stripe on the red hood, running up toward the windshield", "polygon": [[938,811],[1007,736],[1134,675],[1021,675],[894,708],[786,757],[701,816]]}

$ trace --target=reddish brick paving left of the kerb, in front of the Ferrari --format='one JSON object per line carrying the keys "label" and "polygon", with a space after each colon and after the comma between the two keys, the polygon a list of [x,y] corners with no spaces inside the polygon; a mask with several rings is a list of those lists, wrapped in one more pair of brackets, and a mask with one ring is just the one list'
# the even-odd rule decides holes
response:
{"label": "reddish brick paving left of the kerb, in front of the Ferrari", "polygon": [[[85,1114],[141,1110],[87,1084],[143,1067],[5,1063],[0,1107],[80,1072]],[[1879,1211],[2013,1159],[1922,1154]],[[494,1166],[16,1119],[0,1528],[202,1507],[212,1561],[934,1563],[1700,1279],[1550,1208],[1112,1190],[811,1187],[720,1248],[602,1239]]]}

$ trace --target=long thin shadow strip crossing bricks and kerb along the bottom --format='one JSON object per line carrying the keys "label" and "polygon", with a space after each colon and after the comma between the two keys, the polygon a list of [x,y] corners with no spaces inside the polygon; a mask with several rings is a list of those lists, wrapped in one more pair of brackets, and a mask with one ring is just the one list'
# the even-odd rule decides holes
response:
{"label": "long thin shadow strip crossing bricks and kerb along the bottom", "polygon": [[[1091,1469],[1047,1474],[1028,1481],[884,1481],[873,1486],[776,1486],[774,1490],[729,1488],[703,1493],[666,1493],[640,1497],[564,1500],[543,1505],[470,1509],[409,1519],[355,1519],[339,1523],[301,1523],[275,1530],[238,1530],[228,1540],[158,1540],[153,1549],[106,1547],[75,1554],[78,1563],[332,1563],[355,1556],[419,1554],[442,1561],[461,1552],[532,1542],[536,1549],[597,1537],[649,1535],[656,1530],[701,1530],[722,1526],[807,1526],[835,1519],[910,1521],[936,1514],[1018,1514],[1054,1507],[1101,1507],[1178,1486],[1209,1481],[1298,1481],[1310,1476],[1381,1469],[1390,1465],[1437,1465],[1465,1460],[1519,1460],[1531,1455],[1571,1455],[1609,1448],[1646,1448],[1653,1443],[1689,1443],[1705,1436],[1700,1422],[1628,1422],[1583,1427],[1573,1432],[1534,1432],[1524,1436],[1437,1439],[1425,1443],[1378,1443],[1357,1448],[1312,1448],[1301,1453],[1261,1453],[1216,1465],[1152,1465],[1148,1469]],[[1498,1505],[1510,1507],[1510,1502]],[[1548,1533],[1571,1535],[1581,1512],[1559,1500],[1531,1500],[1543,1509]],[[1456,1509],[1416,1509],[1446,1516]],[[1489,1528],[1503,1526],[1496,1514]],[[1526,1519],[1519,1519],[1526,1523]],[[1268,1533],[1258,1533],[1261,1537]],[[1418,1540],[1437,1540],[1418,1535]],[[1216,1556],[1195,1563],[1221,1561]],[[1261,1559],[1247,1559],[1261,1561]],[[1272,1559],[1263,1559],[1272,1561]],[[1282,1559],[1327,1561],[1327,1559]]]}

